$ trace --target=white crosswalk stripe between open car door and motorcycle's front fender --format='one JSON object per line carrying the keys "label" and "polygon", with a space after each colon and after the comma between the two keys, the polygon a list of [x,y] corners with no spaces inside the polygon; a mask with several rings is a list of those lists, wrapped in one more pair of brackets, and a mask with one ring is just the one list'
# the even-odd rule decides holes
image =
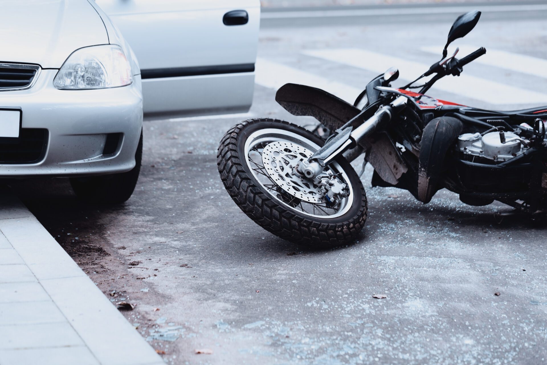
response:
{"label": "white crosswalk stripe between open car door and motorcycle's front fender", "polygon": [[254,82],[265,88],[275,90],[287,83],[313,86],[314,88],[328,91],[340,99],[351,103],[353,103],[362,91],[362,89],[353,88],[352,86],[260,57],[255,64]]}

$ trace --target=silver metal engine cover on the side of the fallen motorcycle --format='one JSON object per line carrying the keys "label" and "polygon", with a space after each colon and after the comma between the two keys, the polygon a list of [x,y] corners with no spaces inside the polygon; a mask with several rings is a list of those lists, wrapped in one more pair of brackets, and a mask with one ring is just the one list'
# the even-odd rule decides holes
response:
{"label": "silver metal engine cover on the side of the fallen motorcycle", "polygon": [[[502,142],[504,140],[504,143]],[[521,138],[513,132],[464,133],[458,137],[457,149],[466,160],[482,157],[492,161],[507,161],[524,153],[526,150]]]}

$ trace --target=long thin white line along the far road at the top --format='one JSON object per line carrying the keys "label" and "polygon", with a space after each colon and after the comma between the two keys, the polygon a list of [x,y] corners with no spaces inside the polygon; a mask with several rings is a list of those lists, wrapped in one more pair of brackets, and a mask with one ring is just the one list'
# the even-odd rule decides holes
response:
{"label": "long thin white line along the far road at the top", "polygon": [[[260,19],[288,19],[288,18],[336,18],[355,16],[380,15],[419,15],[419,14],[453,14],[466,13],[470,5],[454,7],[416,7],[416,8],[382,8],[382,9],[336,9],[336,10],[295,10],[295,11],[263,11]],[[542,11],[547,10],[547,4],[531,5],[481,5],[484,13],[504,13],[514,11]]]}

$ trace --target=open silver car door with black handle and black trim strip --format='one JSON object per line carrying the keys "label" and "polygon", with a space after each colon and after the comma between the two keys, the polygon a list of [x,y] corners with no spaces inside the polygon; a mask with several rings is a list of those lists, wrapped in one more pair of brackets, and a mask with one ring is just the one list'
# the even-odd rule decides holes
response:
{"label": "open silver car door with black handle and black trim strip", "polygon": [[248,111],[259,0],[96,0],[141,67],[145,113]]}

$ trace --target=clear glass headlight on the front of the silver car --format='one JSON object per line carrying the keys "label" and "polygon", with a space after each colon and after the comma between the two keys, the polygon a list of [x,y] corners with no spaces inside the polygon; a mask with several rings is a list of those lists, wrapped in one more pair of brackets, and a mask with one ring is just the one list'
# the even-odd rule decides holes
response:
{"label": "clear glass headlight on the front of the silver car", "polygon": [[53,80],[57,89],[117,88],[133,82],[131,65],[119,45],[80,48],[63,63]]}

